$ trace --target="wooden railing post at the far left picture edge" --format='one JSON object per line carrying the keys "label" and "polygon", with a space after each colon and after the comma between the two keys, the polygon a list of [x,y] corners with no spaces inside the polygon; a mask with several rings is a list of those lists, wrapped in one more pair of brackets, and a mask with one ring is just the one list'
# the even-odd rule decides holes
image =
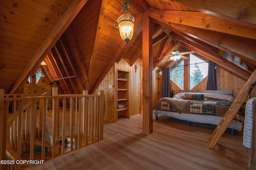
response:
{"label": "wooden railing post at the far left picture edge", "polygon": [[[4,113],[6,111],[6,113]],[[7,132],[7,109],[4,109],[4,90],[0,89],[0,160],[6,160],[6,132]],[[6,169],[5,164],[0,164],[0,170]]]}

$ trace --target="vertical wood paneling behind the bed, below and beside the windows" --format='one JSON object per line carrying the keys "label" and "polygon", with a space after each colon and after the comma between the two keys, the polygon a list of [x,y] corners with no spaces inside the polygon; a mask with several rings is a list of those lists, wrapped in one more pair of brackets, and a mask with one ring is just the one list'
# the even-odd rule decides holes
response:
{"label": "vertical wood paneling behind the bed, below and beside the windows", "polygon": [[[241,89],[244,87],[246,81],[234,76],[230,72],[217,67],[216,68],[217,90],[232,90],[233,96],[236,97]],[[198,83],[192,90],[206,90],[207,76],[200,83]],[[171,90],[182,90],[174,82],[171,81]],[[246,101],[250,98],[256,97],[256,90],[253,88],[251,94]]]}

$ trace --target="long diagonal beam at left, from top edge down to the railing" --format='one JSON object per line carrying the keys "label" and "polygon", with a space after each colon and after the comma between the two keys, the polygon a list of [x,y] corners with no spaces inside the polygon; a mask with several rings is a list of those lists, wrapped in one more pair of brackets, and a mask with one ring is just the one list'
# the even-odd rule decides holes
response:
{"label": "long diagonal beam at left, from top edge down to the railing", "polygon": [[66,30],[71,21],[76,17],[78,12],[84,6],[87,0],[73,0],[64,14],[61,16],[60,20],[49,35],[46,37],[42,45],[36,51],[30,62],[26,65],[26,68],[20,73],[20,76],[16,79],[12,87],[10,88],[10,94],[19,93],[23,88],[23,85],[27,81],[28,77],[31,74],[31,70],[39,68],[40,62],[42,62],[53,45],[58,41],[62,33]]}

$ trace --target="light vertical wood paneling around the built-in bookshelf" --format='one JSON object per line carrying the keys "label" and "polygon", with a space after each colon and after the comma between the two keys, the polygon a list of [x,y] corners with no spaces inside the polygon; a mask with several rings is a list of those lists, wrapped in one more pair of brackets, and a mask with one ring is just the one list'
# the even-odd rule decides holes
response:
{"label": "light vertical wood paneling around the built-in bookshelf", "polygon": [[[129,59],[121,59],[119,63],[114,64],[106,74],[105,78],[98,86],[95,93],[98,90],[104,90],[105,94],[105,108],[104,108],[104,120],[114,122],[116,116],[116,109],[114,108],[114,95],[115,92],[115,78],[114,69],[126,70],[130,72],[130,117],[141,114],[141,66],[142,60],[137,59],[137,61],[130,66]],[[135,65],[138,67],[135,72]],[[109,88],[109,85],[112,85],[112,88]]]}

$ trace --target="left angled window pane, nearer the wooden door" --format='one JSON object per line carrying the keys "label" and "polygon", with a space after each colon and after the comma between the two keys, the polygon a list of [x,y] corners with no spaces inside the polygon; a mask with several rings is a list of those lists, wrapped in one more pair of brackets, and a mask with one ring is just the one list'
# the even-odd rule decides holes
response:
{"label": "left angled window pane, nearer the wooden door", "polygon": [[170,72],[170,79],[184,90],[184,68],[183,61]]}

